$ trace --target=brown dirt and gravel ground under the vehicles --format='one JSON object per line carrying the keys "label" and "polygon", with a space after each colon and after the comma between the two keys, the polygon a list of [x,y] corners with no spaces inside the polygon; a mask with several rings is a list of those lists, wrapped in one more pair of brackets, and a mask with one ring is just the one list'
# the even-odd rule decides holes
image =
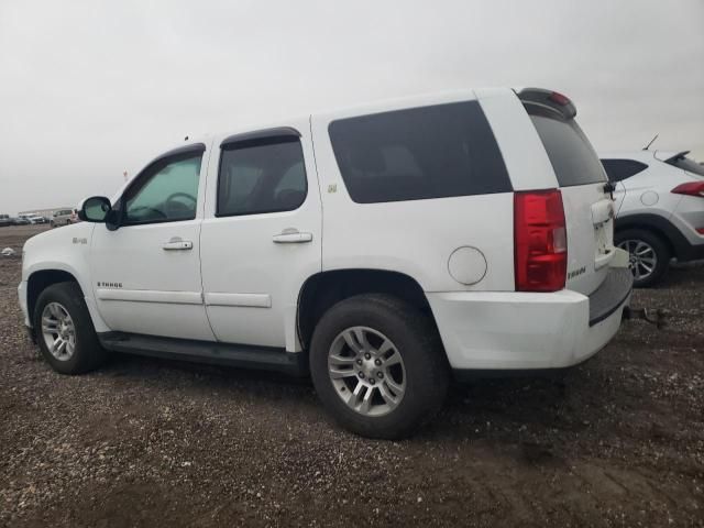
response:
{"label": "brown dirt and gravel ground under the vehicles", "polygon": [[[37,228],[0,228],[20,252]],[[671,271],[561,380],[453,387],[411,440],[324,416],[308,382],[116,355],[61,376],[0,257],[0,524],[704,526],[704,266]]]}

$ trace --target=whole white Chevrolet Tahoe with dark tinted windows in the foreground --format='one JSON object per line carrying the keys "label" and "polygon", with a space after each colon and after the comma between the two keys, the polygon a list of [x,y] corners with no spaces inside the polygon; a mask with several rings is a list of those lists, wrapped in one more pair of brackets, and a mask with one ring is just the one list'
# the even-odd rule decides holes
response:
{"label": "whole white Chevrolet Tahoe with dark tinted windows in the foreground", "polygon": [[310,374],[344,427],[403,437],[452,375],[566,367],[618,330],[632,277],[575,113],[482,89],[188,142],[26,242],[25,323],[61,373]]}

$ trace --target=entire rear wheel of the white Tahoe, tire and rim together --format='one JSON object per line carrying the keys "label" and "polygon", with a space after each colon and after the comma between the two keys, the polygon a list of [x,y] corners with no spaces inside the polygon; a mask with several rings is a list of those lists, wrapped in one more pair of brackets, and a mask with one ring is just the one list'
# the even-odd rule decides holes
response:
{"label": "entire rear wheel of the white Tahoe, tire and rim together", "polygon": [[449,383],[432,321],[386,295],[351,297],[323,315],[310,372],[332,417],[370,438],[410,435],[440,409]]}

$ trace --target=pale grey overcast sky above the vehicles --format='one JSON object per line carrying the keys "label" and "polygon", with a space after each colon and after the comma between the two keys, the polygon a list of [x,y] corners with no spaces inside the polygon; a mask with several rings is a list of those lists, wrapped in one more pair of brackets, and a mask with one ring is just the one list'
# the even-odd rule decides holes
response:
{"label": "pale grey overcast sky above the vehicles", "polygon": [[0,213],[110,196],[185,135],[481,86],[704,161],[704,0],[0,0]]}

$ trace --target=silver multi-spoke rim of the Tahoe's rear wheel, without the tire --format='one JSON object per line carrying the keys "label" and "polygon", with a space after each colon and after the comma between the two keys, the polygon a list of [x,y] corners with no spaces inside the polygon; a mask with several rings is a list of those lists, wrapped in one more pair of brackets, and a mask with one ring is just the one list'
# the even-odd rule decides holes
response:
{"label": "silver multi-spoke rim of the Tahoe's rear wheel, without the tire", "polygon": [[338,334],[328,354],[328,374],[340,399],[362,416],[391,413],[406,393],[406,367],[398,349],[369,327]]}

